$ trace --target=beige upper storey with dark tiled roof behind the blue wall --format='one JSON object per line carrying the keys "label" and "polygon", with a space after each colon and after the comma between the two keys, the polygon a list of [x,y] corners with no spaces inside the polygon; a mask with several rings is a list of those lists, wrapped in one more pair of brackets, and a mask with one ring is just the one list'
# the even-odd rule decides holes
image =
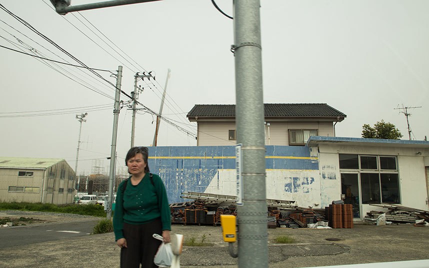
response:
{"label": "beige upper storey with dark tiled roof behind the blue wall", "polygon": [[[235,104],[195,104],[186,117],[197,123],[197,145],[236,143]],[[326,103],[265,103],[267,145],[304,145],[310,136],[335,136],[346,115]]]}

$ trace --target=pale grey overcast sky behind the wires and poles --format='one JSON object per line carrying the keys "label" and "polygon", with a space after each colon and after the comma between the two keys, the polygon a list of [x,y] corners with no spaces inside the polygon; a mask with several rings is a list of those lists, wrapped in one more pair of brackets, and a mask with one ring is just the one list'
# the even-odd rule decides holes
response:
{"label": "pale grey overcast sky behind the wires and poles", "polygon": [[[163,115],[190,133],[196,133],[196,124],[188,122],[186,113],[194,104],[235,103],[232,20],[210,0],[162,0],[65,16],[49,0],[0,3],[87,66],[116,70],[123,65],[125,92],[133,90],[135,72],[152,70],[156,81],[138,82],[144,88],[139,101],[156,112],[170,68]],[[216,3],[232,14],[231,0]],[[325,102],[347,114],[336,125],[337,136],[360,137],[362,124],[384,119],[399,128],[403,139],[408,139],[406,119],[394,108],[422,106],[409,110],[412,138],[422,140],[429,135],[428,9],[426,0],[262,0],[264,102]],[[77,64],[2,9],[0,19],[0,45],[27,53],[34,48],[39,56]],[[93,166],[107,171],[113,87],[84,69],[3,47],[0,57],[0,155],[65,158],[74,168],[75,114],[88,112],[78,171],[88,173]],[[97,72],[115,83],[109,72]],[[53,112],[61,114],[26,116]],[[155,119],[139,111],[136,145],[152,143]],[[130,132],[131,111],[124,105],[118,123],[119,167]],[[192,136],[162,121],[158,145],[196,145]]]}

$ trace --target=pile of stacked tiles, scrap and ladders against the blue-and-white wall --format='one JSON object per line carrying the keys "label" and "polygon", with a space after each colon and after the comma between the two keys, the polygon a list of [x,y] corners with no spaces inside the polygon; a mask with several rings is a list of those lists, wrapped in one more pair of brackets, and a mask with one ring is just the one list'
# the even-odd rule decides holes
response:
{"label": "pile of stacked tiles, scrap and ladders against the blue-and-white wall", "polygon": [[[170,204],[171,223],[220,225],[221,214],[236,215],[236,196],[203,192],[182,192],[181,198],[193,199]],[[327,227],[352,228],[351,208],[335,204],[332,210],[298,207],[295,201],[266,199],[268,228]],[[347,210],[348,209],[348,210]],[[338,212],[340,210],[340,212]],[[330,221],[325,211],[332,211]],[[329,212],[328,212],[329,213]],[[340,214],[338,214],[340,213]],[[340,218],[339,218],[340,217]],[[341,222],[339,224],[338,222]],[[347,223],[344,223],[347,222]]]}

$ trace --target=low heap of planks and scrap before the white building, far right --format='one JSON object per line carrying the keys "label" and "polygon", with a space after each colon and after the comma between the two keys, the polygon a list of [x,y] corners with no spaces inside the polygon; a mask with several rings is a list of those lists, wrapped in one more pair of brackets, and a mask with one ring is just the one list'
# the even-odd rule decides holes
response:
{"label": "low heap of planks and scrap before the white building, far right", "polygon": [[385,220],[394,224],[400,223],[413,223],[414,226],[424,226],[424,222],[429,222],[429,211],[406,207],[401,205],[392,205],[392,204],[371,204],[374,206],[380,206],[387,208],[387,211],[375,211],[371,210],[367,212],[365,216],[365,221],[376,222],[382,214],[385,213]]}

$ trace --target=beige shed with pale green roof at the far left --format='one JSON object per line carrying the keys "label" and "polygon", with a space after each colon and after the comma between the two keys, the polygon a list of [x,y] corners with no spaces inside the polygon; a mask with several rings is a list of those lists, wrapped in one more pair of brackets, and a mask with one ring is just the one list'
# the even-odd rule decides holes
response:
{"label": "beige shed with pale green roof at the far left", "polygon": [[74,170],[64,159],[0,156],[0,202],[73,202]]}

